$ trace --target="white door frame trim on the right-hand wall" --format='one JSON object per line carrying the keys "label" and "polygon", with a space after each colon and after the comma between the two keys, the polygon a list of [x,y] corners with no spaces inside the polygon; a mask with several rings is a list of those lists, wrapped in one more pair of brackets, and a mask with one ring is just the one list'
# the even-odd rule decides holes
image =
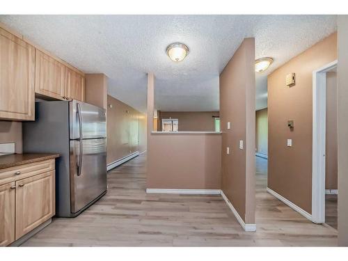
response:
{"label": "white door frame trim on the right-hand wall", "polygon": [[313,71],[312,221],[325,222],[326,72],[337,60]]}

